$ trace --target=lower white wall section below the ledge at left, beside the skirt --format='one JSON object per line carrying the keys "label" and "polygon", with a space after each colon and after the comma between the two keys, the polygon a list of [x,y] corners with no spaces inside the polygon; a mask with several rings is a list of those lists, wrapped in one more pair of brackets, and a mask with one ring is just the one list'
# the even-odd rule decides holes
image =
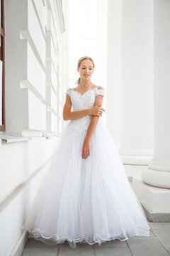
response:
{"label": "lower white wall section below the ledge at left, beside the skirt", "polygon": [[[52,139],[33,138],[28,142],[0,143],[0,255],[9,255],[21,235],[21,226],[27,209],[40,182],[42,164],[50,158],[57,144]],[[26,182],[26,183],[25,183]]]}

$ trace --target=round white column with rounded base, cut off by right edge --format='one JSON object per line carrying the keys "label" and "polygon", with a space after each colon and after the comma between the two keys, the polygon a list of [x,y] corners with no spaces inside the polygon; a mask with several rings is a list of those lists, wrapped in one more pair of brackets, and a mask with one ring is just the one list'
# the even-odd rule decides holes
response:
{"label": "round white column with rounded base, cut off by right edge", "polygon": [[170,1],[154,0],[154,157],[142,180],[170,188]]}

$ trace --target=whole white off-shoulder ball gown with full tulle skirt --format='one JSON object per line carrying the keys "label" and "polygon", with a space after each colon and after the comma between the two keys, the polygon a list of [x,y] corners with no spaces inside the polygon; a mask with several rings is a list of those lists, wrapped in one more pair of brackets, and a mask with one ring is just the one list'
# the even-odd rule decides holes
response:
{"label": "whole white off-shoulder ball gown with full tulle skirt", "polygon": [[[66,93],[76,111],[93,107],[96,95],[105,91],[94,87],[81,95],[68,88]],[[145,212],[100,117],[91,137],[90,155],[81,158],[90,121],[90,114],[70,120],[62,132],[22,226],[29,238],[47,245],[67,241],[75,248],[77,242],[101,245],[134,235],[149,236]]]}

